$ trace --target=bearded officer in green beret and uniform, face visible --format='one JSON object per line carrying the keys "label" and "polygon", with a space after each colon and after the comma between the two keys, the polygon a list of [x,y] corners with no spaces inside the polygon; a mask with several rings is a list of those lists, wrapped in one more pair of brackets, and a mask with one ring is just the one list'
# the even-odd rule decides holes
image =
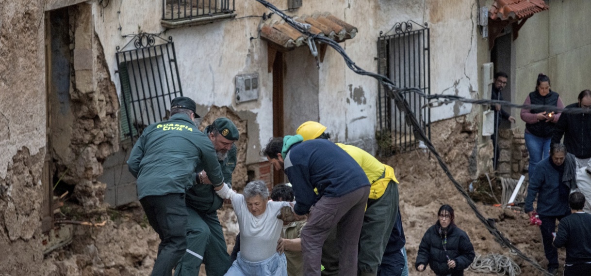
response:
{"label": "bearded officer in green beret and uniform, face visible", "polygon": [[[229,119],[220,117],[204,132],[216,150],[225,182],[232,188],[238,128]],[[221,276],[232,265],[222,225],[217,218],[217,209],[222,207],[223,199],[207,183],[210,183],[209,174],[200,171],[196,185],[187,191],[187,252],[178,262],[175,276],[199,275],[202,262],[208,276]]]}

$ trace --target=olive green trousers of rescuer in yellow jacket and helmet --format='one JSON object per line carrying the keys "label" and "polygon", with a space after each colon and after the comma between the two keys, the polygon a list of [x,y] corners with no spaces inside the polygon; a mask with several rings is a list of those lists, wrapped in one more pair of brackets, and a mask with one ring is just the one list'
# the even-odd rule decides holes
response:
{"label": "olive green trousers of rescuer in yellow jacket and helmet", "polygon": [[[378,273],[397,215],[398,183],[390,181],[384,195],[378,199],[368,200],[359,236],[358,275],[369,276]],[[331,230],[322,247],[322,265],[325,268],[322,271],[323,276],[338,274],[339,250],[336,232],[336,229]]]}

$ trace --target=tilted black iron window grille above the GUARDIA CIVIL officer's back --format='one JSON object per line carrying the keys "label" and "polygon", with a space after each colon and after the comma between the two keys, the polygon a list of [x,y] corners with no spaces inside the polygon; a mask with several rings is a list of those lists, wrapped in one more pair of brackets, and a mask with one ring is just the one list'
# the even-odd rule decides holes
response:
{"label": "tilted black iron window grille above the GUARDIA CIVIL officer's back", "polygon": [[121,140],[131,143],[145,127],[170,117],[170,101],[183,96],[173,38],[155,34],[134,35],[124,47],[116,48],[121,110]]}

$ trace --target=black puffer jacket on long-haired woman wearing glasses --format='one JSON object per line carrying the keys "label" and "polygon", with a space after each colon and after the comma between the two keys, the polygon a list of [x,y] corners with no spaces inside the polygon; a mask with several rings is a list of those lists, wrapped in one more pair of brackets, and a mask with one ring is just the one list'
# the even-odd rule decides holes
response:
{"label": "black puffer jacket on long-haired woman wearing glasses", "polygon": [[[431,270],[437,275],[464,275],[464,270],[472,264],[476,254],[470,238],[466,232],[457,228],[456,225],[450,225],[447,230],[447,244],[444,249],[444,237],[439,234],[441,225],[439,221],[425,232],[421,244],[418,246],[417,262],[415,268],[419,265],[429,265]],[[450,270],[447,267],[447,258],[456,261],[456,267]]]}

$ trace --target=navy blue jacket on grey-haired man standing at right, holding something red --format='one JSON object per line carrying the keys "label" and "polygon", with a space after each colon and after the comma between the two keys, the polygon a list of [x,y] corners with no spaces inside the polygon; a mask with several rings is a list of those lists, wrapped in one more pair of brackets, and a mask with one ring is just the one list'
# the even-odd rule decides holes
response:
{"label": "navy blue jacket on grey-haired man standing at right, holding something red", "polygon": [[541,160],[535,166],[534,173],[530,174],[524,211],[534,211],[534,199],[538,196],[536,210],[539,215],[568,215],[570,188],[560,180],[560,172],[554,169],[550,162],[550,157]]}

